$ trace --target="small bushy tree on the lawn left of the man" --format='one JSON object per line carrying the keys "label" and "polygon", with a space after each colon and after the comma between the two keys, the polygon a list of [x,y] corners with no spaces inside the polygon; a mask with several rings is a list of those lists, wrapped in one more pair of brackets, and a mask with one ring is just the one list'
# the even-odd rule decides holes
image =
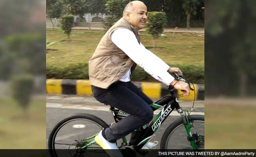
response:
{"label": "small bushy tree on the lawn left of the man", "polygon": [[61,16],[61,29],[64,31],[65,34],[67,34],[68,39],[70,39],[70,33],[72,31],[74,22],[74,15],[63,15]]}

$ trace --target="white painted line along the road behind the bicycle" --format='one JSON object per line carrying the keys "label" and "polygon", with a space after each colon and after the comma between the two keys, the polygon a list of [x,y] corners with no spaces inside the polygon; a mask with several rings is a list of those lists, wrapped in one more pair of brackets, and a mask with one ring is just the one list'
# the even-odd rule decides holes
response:
{"label": "white painted line along the road behind the bicycle", "polygon": [[[96,110],[96,111],[109,111],[107,106],[91,106],[91,105],[77,105],[77,104],[56,104],[46,103],[46,108],[70,108],[77,110]],[[158,115],[161,110],[154,111],[154,115]],[[191,115],[204,115],[203,112],[192,112]],[[169,116],[180,116],[175,110]]]}

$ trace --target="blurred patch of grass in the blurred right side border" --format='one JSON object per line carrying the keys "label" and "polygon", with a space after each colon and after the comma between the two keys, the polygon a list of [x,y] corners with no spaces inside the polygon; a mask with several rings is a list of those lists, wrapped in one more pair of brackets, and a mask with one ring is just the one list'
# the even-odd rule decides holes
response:
{"label": "blurred patch of grass in the blurred right side border", "polygon": [[255,149],[256,107],[205,105],[206,149]]}

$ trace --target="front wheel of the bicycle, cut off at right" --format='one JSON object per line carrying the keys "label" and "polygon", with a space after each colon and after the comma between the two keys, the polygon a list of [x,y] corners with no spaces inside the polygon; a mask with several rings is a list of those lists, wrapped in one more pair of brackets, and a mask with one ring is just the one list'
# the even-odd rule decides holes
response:
{"label": "front wheel of the bicycle, cut off at right", "polygon": [[[197,133],[198,149],[204,149],[204,116],[190,115],[191,122],[194,127],[190,129],[191,133]],[[174,121],[163,133],[160,149],[193,149],[190,142],[187,140],[186,128],[183,124],[183,119]]]}

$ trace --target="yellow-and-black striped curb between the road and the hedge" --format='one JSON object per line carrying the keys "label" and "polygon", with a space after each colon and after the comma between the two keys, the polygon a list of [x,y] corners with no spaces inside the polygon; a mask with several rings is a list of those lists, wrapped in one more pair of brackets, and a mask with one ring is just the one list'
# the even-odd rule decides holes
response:
{"label": "yellow-and-black striped curb between the road and the hedge", "polygon": [[[162,83],[154,82],[133,82],[143,93],[151,99],[159,99],[169,91],[167,86]],[[191,85],[192,86],[192,85]],[[190,92],[188,97],[180,97],[179,100],[204,100],[204,84],[194,84],[195,93]],[[193,86],[192,86],[193,87]],[[46,80],[47,94],[63,94],[63,95],[93,95],[89,80],[68,80],[68,79],[47,79]],[[178,90],[177,94],[182,91]]]}

